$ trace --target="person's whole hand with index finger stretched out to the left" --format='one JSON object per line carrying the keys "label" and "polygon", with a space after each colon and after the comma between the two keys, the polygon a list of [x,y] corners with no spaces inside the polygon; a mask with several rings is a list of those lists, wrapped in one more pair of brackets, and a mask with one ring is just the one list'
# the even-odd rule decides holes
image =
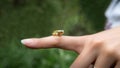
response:
{"label": "person's whole hand with index finger stretched out to the left", "polygon": [[48,36],[28,38],[21,41],[35,49],[61,48],[75,51],[78,57],[70,68],[120,68],[120,27],[84,36]]}

